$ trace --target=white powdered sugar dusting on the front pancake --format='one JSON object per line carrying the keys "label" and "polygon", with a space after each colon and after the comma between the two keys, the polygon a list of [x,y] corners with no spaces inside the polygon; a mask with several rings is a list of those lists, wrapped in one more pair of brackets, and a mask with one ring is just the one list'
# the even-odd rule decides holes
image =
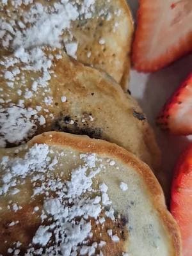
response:
{"label": "white powdered sugar dusting on the front pancake", "polygon": [[[54,175],[54,170],[58,159],[64,155],[65,152],[56,154],[45,144],[35,144],[23,157],[5,156],[1,159],[3,186],[0,195],[17,189],[20,180],[25,182],[26,177],[30,177],[33,184],[31,200],[35,200],[36,195],[44,198],[42,208],[33,208],[36,214],[40,214],[42,223],[36,229],[31,244],[28,244],[26,256],[39,255],[43,251],[45,255],[95,255],[96,251],[102,255],[102,248],[106,246],[103,240],[91,243],[89,239],[93,236],[91,219],[101,225],[106,218],[115,220],[107,193],[108,186],[101,183],[98,189],[93,188],[93,179],[102,170],[102,159],[96,154],[79,154],[81,165],[71,171],[67,180],[63,180],[63,172]],[[65,168],[65,164],[63,166]],[[106,210],[106,204],[110,205],[109,210]],[[17,204],[11,207],[13,211],[22,209]],[[111,241],[118,243],[119,237],[112,230],[108,234]],[[15,252],[20,249],[18,246],[9,250]]]}

